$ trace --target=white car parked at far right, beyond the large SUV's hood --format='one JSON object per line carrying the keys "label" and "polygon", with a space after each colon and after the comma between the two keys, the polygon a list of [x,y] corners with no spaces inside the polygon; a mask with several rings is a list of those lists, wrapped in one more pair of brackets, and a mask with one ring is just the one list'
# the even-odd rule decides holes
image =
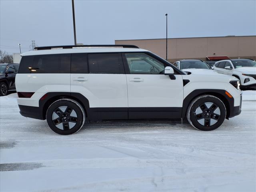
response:
{"label": "white car parked at far right, beyond the large SUV's hood", "polygon": [[214,70],[238,78],[242,90],[256,90],[256,61],[250,59],[230,59],[216,62]]}

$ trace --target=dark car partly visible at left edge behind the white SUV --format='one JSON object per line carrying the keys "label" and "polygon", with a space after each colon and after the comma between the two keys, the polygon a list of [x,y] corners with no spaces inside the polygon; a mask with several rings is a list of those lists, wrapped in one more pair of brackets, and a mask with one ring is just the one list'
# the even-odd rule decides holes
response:
{"label": "dark car partly visible at left edge behind the white SUV", "polygon": [[0,64],[0,96],[5,96],[8,91],[15,90],[15,76],[18,72],[19,64]]}

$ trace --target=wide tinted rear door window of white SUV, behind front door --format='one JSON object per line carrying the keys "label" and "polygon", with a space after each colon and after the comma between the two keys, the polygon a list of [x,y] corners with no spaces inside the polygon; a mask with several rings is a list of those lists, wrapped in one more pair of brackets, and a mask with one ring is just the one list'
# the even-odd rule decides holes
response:
{"label": "wide tinted rear door window of white SUV, behind front door", "polygon": [[124,74],[120,53],[88,54],[90,73]]}

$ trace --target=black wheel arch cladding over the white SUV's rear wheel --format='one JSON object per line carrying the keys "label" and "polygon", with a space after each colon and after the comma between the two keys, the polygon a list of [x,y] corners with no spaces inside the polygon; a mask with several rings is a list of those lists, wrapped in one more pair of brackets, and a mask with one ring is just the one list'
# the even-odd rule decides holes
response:
{"label": "black wheel arch cladding over the white SUV's rear wheel", "polygon": [[[45,99],[42,99],[45,96]],[[88,117],[89,111],[89,101],[88,99],[80,93],[73,92],[48,92],[39,100],[39,107],[42,109],[42,116],[46,119],[46,111],[49,106],[59,99],[69,98],[78,102],[85,111],[86,117]]]}

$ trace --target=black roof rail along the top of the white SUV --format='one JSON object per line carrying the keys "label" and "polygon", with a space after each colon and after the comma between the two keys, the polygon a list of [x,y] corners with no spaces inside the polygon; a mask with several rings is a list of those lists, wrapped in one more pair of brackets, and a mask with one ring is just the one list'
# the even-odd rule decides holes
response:
{"label": "black roof rail along the top of the white SUV", "polygon": [[52,48],[72,49],[75,47],[123,47],[123,48],[139,48],[136,45],[60,45],[60,46],[44,46],[35,47],[34,50],[48,50]]}

